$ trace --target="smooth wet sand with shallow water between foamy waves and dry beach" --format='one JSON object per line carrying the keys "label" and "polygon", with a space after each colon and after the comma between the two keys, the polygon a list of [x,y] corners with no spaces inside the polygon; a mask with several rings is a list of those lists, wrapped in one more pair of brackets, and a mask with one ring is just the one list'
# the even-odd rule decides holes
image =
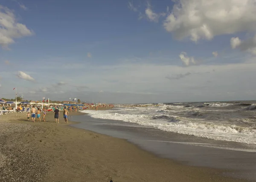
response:
{"label": "smooth wet sand with shallow water between foamy waves and dry beach", "polygon": [[256,151],[249,144],[186,136],[88,115],[73,116],[72,121],[81,122],[73,127],[127,139],[160,157],[175,159],[186,165],[235,170],[224,175],[256,181]]}

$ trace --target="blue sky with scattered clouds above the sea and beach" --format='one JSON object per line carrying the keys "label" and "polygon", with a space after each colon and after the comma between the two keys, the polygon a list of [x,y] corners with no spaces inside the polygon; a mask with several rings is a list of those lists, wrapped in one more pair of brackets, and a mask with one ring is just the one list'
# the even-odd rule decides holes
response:
{"label": "blue sky with scattered clouds above the sea and beach", "polygon": [[255,100],[256,0],[0,0],[0,98]]}

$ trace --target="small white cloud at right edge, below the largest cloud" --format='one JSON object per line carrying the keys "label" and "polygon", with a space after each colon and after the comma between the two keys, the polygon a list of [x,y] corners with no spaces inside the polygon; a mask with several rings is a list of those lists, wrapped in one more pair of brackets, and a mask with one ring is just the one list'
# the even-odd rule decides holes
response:
{"label": "small white cloud at right edge, below the largest cloud", "polygon": [[249,38],[247,40],[241,40],[240,38],[231,38],[230,45],[232,49],[239,48],[241,51],[250,52],[253,55],[256,55],[256,35],[254,38]]}

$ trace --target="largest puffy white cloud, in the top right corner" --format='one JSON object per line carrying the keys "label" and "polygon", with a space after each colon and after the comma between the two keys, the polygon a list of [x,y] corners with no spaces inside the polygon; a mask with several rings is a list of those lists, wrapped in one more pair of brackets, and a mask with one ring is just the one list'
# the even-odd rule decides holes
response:
{"label": "largest puffy white cloud, in the top right corner", "polygon": [[175,38],[211,40],[216,35],[256,31],[255,0],[176,0],[163,23]]}

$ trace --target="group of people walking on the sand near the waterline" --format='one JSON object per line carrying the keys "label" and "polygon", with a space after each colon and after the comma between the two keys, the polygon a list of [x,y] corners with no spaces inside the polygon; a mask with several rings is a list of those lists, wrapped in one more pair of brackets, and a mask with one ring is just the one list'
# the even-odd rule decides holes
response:
{"label": "group of people walking on the sand near the waterline", "polygon": [[[33,122],[35,122],[35,118],[36,118],[37,121],[39,120],[39,122],[41,122],[41,111],[42,111],[41,109],[36,110],[35,106],[32,107],[32,109],[31,109],[31,119],[32,119]],[[37,116],[35,116],[35,114]],[[57,121],[59,123],[59,114],[60,114],[60,110],[58,110],[57,107],[55,107],[55,110],[54,110],[55,123],[57,123]],[[65,123],[68,123],[68,120],[67,120],[68,114],[69,114],[68,110],[65,107],[64,110],[63,110],[63,117],[65,119]],[[43,109],[43,121],[44,122],[45,122],[45,116],[46,116],[46,110],[44,108]],[[30,118],[30,113],[29,112],[27,113],[27,118],[28,118],[28,121],[29,121],[29,118]]]}

